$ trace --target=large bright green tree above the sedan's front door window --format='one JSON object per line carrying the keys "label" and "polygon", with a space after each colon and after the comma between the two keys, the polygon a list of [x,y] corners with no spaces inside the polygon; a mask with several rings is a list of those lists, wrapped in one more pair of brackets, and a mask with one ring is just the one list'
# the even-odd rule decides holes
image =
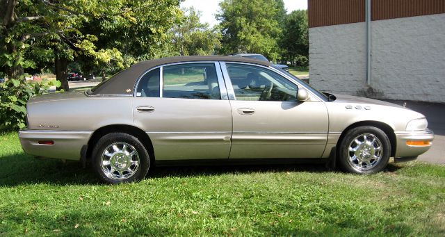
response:
{"label": "large bright green tree above the sedan's front door window", "polygon": [[257,53],[275,60],[280,55],[282,0],[225,0],[220,3],[223,54]]}

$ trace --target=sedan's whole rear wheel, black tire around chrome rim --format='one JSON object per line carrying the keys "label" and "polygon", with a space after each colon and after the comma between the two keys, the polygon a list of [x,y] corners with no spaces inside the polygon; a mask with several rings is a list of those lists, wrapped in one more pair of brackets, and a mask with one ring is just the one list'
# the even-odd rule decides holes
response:
{"label": "sedan's whole rear wheel, black tire around chrome rim", "polygon": [[[117,149],[122,150],[120,152],[115,149],[111,150],[113,148],[111,145],[116,145]],[[108,156],[105,154],[110,154],[109,151],[113,151],[114,155]],[[136,153],[131,155],[124,151],[131,152],[131,154]],[[104,158],[109,157],[109,165],[103,165],[102,156]],[[150,167],[150,158],[147,149],[138,138],[127,133],[108,133],[96,142],[92,150],[92,167],[99,178],[106,183],[130,183],[145,178]],[[127,170],[124,170],[126,167]],[[115,171],[112,172],[113,170]],[[130,170],[133,170],[133,172],[129,172]]]}

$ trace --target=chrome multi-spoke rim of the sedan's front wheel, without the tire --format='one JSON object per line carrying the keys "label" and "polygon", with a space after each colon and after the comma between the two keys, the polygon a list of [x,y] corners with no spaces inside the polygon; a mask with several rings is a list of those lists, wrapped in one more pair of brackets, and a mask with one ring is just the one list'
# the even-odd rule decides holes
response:
{"label": "chrome multi-spoke rim of the sedan's front wheel, without the tire", "polygon": [[361,134],[350,142],[348,161],[357,170],[371,170],[382,155],[382,142],[371,133]]}

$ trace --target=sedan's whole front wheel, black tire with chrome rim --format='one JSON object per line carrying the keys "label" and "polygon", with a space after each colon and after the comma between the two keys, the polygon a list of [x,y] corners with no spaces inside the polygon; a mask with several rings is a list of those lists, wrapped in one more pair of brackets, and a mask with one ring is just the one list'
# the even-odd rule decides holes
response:
{"label": "sedan's whole front wheel, black tire with chrome rim", "polygon": [[381,129],[374,126],[359,126],[346,132],[341,140],[338,155],[342,170],[356,174],[373,174],[382,171],[388,165],[391,142]]}

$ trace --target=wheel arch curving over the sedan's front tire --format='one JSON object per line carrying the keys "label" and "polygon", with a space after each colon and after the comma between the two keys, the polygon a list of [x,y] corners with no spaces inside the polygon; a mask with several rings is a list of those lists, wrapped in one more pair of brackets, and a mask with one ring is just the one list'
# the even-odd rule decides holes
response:
{"label": "wheel arch curving over the sedan's front tire", "polygon": [[[340,143],[343,140],[344,136],[346,136],[346,133],[350,129],[355,129],[356,127],[359,127],[359,126],[375,126],[376,128],[381,129],[388,136],[389,143],[391,144],[391,156],[390,157],[393,157],[396,155],[397,140],[396,140],[396,133],[394,133],[394,129],[392,129],[392,127],[389,126],[388,124],[385,124],[385,122],[379,122],[379,121],[373,121],[373,120],[355,122],[353,124],[350,124],[348,127],[346,127],[346,129],[344,129],[343,132],[341,133],[339,140],[337,141],[337,148],[340,147]],[[337,149],[337,152],[338,152],[338,149]]]}

